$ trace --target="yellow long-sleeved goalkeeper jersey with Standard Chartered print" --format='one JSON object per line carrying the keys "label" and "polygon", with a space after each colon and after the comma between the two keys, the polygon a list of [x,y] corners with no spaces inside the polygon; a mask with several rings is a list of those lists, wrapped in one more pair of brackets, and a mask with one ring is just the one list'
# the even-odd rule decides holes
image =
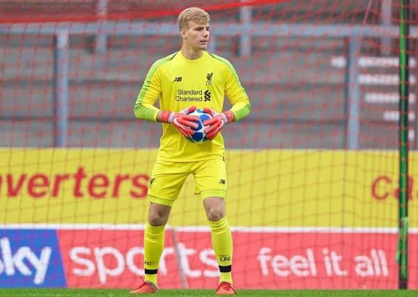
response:
{"label": "yellow long-sleeved goalkeeper jersey with Standard Chartered print", "polygon": [[[135,102],[138,119],[156,121],[157,112],[178,112],[195,105],[216,112],[224,109],[225,95],[231,102],[235,121],[249,114],[247,93],[232,64],[221,56],[203,52],[199,59],[189,60],[181,52],[170,54],[153,63]],[[154,106],[160,100],[160,109]],[[162,124],[162,137],[157,160],[191,162],[224,155],[224,139],[219,133],[212,141],[189,142],[171,124]]]}

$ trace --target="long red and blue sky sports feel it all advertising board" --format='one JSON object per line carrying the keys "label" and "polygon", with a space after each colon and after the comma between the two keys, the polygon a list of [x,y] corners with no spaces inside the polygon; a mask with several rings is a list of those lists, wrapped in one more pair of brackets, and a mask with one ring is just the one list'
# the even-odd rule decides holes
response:
{"label": "long red and blue sky sports feel it all advertising board", "polygon": [[[0,229],[0,287],[130,288],[144,275],[144,229]],[[193,230],[196,228],[193,227]],[[209,289],[219,280],[210,229],[176,231],[160,261],[159,284],[180,288],[178,262],[188,287]],[[236,287],[257,289],[394,289],[397,234],[234,231]],[[251,251],[248,238],[251,235]],[[371,235],[373,241],[370,241]],[[199,236],[199,241],[196,241]],[[411,241],[417,234],[411,234]],[[293,248],[283,241],[299,243]],[[362,242],[364,245],[356,245]],[[245,259],[245,261],[243,260]],[[411,254],[410,263],[417,263]],[[411,275],[417,267],[410,266]],[[248,279],[254,280],[249,284]],[[289,281],[290,280],[290,281]],[[418,283],[412,280],[411,288]],[[319,286],[319,287],[318,287]]]}

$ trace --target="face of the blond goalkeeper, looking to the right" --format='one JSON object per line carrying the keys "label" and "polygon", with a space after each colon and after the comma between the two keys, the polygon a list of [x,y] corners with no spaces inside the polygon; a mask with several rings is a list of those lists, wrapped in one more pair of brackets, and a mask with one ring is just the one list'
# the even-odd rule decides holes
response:
{"label": "face of the blond goalkeeper, looking to the right", "polygon": [[183,43],[194,50],[206,50],[210,35],[209,24],[190,21],[188,25],[187,28],[180,31]]}

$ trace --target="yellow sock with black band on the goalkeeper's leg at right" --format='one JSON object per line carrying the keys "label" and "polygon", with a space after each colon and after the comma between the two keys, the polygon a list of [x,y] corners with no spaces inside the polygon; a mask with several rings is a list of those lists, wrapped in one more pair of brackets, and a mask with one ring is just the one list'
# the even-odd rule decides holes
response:
{"label": "yellow sock with black band on the goalkeeper's leg at right", "polygon": [[212,246],[221,273],[219,282],[232,284],[232,234],[228,220],[224,217],[217,222],[210,221],[210,229],[212,230]]}

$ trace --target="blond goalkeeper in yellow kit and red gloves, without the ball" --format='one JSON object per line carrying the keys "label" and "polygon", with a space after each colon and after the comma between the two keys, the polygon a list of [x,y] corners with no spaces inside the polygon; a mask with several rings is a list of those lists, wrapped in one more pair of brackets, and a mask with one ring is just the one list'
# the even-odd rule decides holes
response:
{"label": "blond goalkeeper in yellow kit and red gloves, without the ball", "polygon": [[[226,166],[222,127],[239,121],[250,111],[250,102],[231,63],[206,52],[210,17],[201,8],[187,8],[178,15],[183,43],[179,52],[153,63],[134,106],[138,119],[162,123],[157,160],[148,187],[150,209],[144,232],[144,270],[133,294],[157,291],[157,270],[164,245],[164,227],[173,202],[189,174],[196,183],[212,231],[212,246],[219,264],[217,294],[235,295],[231,277],[232,236],[225,217]],[[222,112],[224,96],[231,109]],[[160,109],[154,106],[159,98]],[[196,108],[212,114],[204,124],[210,141],[189,142],[198,117]],[[184,137],[183,137],[184,136]]]}

